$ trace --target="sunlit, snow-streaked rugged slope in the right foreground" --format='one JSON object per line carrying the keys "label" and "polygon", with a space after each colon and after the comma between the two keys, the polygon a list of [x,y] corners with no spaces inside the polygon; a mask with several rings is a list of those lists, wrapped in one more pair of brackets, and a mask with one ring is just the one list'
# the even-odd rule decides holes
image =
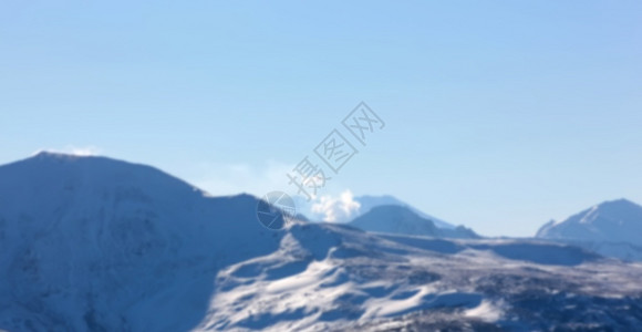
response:
{"label": "sunlit, snow-streaked rugged slope in the right foreground", "polygon": [[642,266],[577,247],[377,237],[322,224],[292,225],[282,247],[288,255],[221,271],[199,329],[627,330],[642,322]]}

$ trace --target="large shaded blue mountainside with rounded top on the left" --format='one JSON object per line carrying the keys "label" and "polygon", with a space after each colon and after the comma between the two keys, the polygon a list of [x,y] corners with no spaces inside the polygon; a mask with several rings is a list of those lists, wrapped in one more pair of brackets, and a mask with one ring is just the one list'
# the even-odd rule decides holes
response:
{"label": "large shaded blue mountainside with rounded top on the left", "polygon": [[2,166],[0,328],[188,330],[220,267],[279,248],[256,204],[107,158]]}

